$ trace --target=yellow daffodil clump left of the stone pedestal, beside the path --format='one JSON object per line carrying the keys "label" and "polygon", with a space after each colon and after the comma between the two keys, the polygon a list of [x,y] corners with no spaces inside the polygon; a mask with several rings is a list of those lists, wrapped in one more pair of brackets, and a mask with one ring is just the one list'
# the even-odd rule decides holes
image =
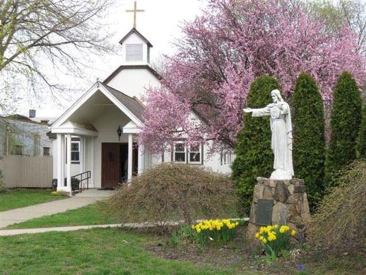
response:
{"label": "yellow daffodil clump left of the stone pedestal, beside the path", "polygon": [[238,221],[234,222],[229,219],[210,219],[209,221],[202,221],[192,225],[191,228],[196,232],[201,241],[228,242],[233,240],[238,225]]}

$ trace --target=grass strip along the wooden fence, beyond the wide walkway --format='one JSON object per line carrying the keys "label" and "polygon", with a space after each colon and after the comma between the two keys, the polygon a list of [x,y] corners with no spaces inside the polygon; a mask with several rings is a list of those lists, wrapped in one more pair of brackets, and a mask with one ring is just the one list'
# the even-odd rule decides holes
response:
{"label": "grass strip along the wooden fence, beyond the wide walkway", "polygon": [[0,193],[0,211],[32,206],[47,201],[65,199],[64,196],[52,196],[51,190],[45,189],[15,189]]}

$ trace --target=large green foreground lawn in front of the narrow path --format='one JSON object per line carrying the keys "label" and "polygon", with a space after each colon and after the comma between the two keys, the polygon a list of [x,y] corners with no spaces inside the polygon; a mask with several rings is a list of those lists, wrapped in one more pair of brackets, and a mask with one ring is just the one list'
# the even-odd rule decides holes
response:
{"label": "large green foreground lawn in front of the narrow path", "polygon": [[157,238],[111,228],[1,237],[0,274],[234,274],[160,259],[144,251],[149,241]]}

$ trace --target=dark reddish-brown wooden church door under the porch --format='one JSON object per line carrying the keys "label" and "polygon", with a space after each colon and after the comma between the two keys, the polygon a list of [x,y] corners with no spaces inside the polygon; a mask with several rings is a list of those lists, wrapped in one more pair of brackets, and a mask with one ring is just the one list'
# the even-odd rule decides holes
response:
{"label": "dark reddish-brown wooden church door under the porch", "polygon": [[102,187],[116,187],[121,181],[121,155],[119,143],[102,143]]}

